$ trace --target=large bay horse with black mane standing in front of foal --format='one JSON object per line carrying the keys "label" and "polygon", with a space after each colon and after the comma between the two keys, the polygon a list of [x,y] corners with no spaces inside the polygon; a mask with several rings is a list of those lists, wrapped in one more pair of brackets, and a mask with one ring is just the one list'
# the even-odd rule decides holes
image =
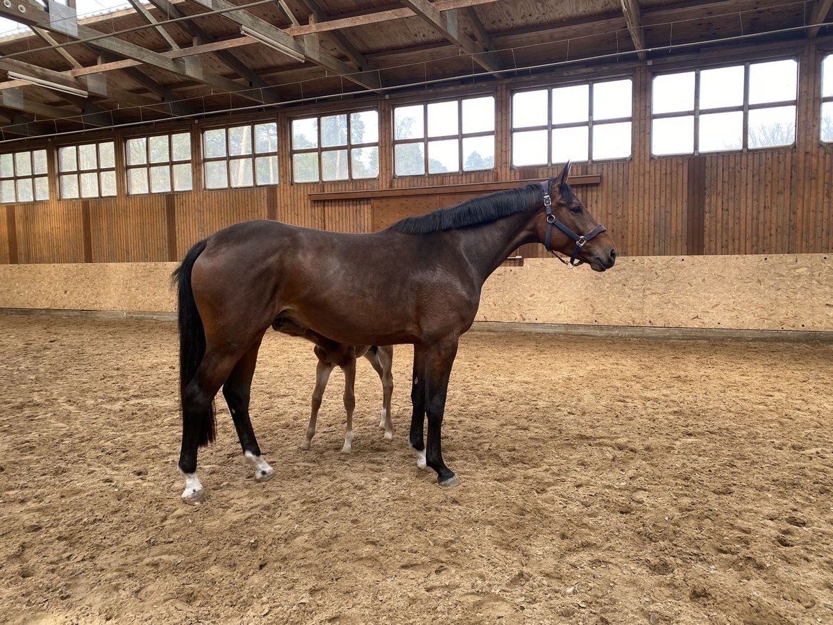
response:
{"label": "large bay horse with black mane standing in front of foal", "polygon": [[[180,335],[182,498],[199,502],[197,449],[214,440],[222,387],[255,479],[272,478],[249,418],[263,334],[277,318],[346,345],[414,346],[409,447],[440,486],[459,483],[441,453],[451,365],[486,278],[524,243],[544,243],[597,272],[616,250],[567,184],[555,178],[473,198],[377,233],[333,233],[255,220],[196,243],[174,271]],[[407,201],[407,200],[405,200]],[[582,234],[583,233],[583,234]],[[544,287],[546,288],[546,286]],[[427,413],[427,446],[425,417]]]}

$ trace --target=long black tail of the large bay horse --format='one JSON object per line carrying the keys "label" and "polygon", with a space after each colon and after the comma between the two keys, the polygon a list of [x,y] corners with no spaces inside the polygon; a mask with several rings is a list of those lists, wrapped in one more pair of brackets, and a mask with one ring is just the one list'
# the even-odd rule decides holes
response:
{"label": "long black tail of the large bay horse", "polygon": [[[182,418],[185,418],[185,389],[197,374],[197,368],[202,363],[206,353],[206,335],[202,328],[202,318],[194,302],[191,288],[191,270],[197,257],[206,248],[208,239],[203,239],[188,250],[182,264],[171,275],[172,283],[177,287],[177,318],[179,321],[179,397],[183,408]],[[207,413],[202,415],[199,428],[199,444],[212,443],[217,432],[214,419],[214,403],[209,405]]]}

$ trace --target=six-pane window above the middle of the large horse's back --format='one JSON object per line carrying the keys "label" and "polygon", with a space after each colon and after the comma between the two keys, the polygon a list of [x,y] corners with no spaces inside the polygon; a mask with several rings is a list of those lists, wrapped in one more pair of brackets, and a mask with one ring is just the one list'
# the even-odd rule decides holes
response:
{"label": "six-pane window above the middle of the large horse's back", "polygon": [[379,175],[379,113],[292,120],[292,180],[358,180]]}

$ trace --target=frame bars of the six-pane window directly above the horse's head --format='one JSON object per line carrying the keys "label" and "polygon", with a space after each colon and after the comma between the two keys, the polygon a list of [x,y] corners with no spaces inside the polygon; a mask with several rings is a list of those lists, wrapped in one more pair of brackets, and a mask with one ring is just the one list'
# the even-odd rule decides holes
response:
{"label": "frame bars of the six-pane window directly above the horse's head", "polygon": [[[631,81],[631,115],[627,117],[610,117],[608,119],[595,120],[593,118],[593,99],[595,87],[597,84],[605,82],[621,82],[623,80]],[[552,119],[552,92],[563,87],[581,87],[587,86],[587,119],[581,122],[562,122],[553,123]],[[633,112],[634,112],[634,93],[633,93],[634,77],[631,74],[626,76],[609,76],[603,78],[596,78],[588,81],[571,81],[559,84],[550,84],[544,87],[529,87],[524,89],[516,89],[511,92],[509,104],[509,133],[510,133],[510,168],[513,170],[522,168],[537,168],[537,167],[553,167],[566,163],[566,161],[554,161],[552,154],[552,131],[561,128],[587,128],[587,160],[573,161],[574,163],[616,163],[617,161],[626,162],[633,158]],[[522,128],[514,128],[513,120],[515,117],[515,95],[516,93],[531,93],[531,92],[546,91],[546,124],[538,124],[537,126],[525,126]],[[593,158],[593,128],[596,126],[608,126],[615,123],[630,123],[631,124],[631,150],[627,156],[616,158]],[[526,165],[515,164],[515,133],[532,133],[546,131],[546,163],[529,163]]]}

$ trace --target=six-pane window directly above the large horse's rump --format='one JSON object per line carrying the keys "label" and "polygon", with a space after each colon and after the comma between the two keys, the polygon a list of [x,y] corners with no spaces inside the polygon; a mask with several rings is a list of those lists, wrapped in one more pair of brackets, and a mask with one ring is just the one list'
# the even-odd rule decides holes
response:
{"label": "six-pane window directly above the large horse's rump", "polygon": [[277,123],[205,131],[202,161],[207,189],[277,184]]}

